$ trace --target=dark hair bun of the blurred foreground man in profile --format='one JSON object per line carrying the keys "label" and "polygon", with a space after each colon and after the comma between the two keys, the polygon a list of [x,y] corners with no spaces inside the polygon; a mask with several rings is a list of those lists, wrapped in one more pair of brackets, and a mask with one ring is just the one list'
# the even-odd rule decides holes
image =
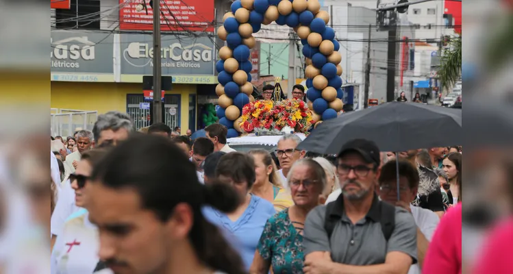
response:
{"label": "dark hair bun of the blurred foreground man in profile", "polygon": [[234,212],[240,205],[238,193],[232,186],[221,182],[205,184],[205,203],[221,212]]}

